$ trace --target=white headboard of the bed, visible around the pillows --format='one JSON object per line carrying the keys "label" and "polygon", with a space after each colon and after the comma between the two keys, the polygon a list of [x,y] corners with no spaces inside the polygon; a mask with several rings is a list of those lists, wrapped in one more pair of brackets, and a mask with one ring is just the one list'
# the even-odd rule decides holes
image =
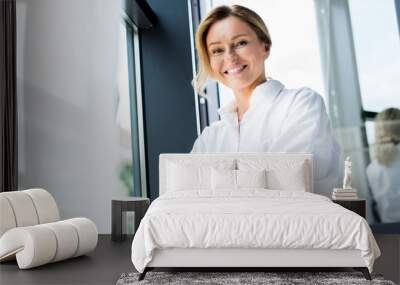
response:
{"label": "white headboard of the bed, visible around the pillows", "polygon": [[[160,154],[159,160],[159,195],[167,191],[167,169],[168,164],[183,163],[185,165],[210,165],[220,162],[232,161],[237,168],[251,167],[252,165],[262,165],[267,169],[273,169],[282,174],[282,179],[290,181],[288,169],[294,169],[300,164],[304,166],[305,191],[313,192],[313,159],[310,153],[174,153]],[[280,171],[282,170],[282,171]],[[288,189],[278,189],[288,190]]]}

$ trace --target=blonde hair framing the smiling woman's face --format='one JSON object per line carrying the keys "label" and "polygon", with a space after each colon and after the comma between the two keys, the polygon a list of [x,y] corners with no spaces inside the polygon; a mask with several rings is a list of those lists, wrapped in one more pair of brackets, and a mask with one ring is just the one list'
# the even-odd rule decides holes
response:
{"label": "blonde hair framing the smiling woman's face", "polygon": [[196,32],[196,50],[199,57],[199,68],[196,77],[192,81],[192,85],[200,95],[204,95],[204,87],[212,74],[206,41],[208,31],[213,24],[229,16],[237,17],[247,23],[256,33],[258,40],[265,43],[268,50],[271,47],[272,42],[267,26],[254,11],[240,5],[218,6],[211,10],[200,23]]}

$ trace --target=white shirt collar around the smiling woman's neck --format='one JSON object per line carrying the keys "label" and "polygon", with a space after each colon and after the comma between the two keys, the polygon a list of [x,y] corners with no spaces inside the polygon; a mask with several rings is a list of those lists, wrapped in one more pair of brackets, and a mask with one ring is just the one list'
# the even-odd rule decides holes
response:
{"label": "white shirt collar around the smiling woman's neck", "polygon": [[[254,106],[259,105],[261,102],[269,102],[272,104],[276,95],[284,88],[284,85],[278,80],[269,79],[260,85],[258,85],[250,97],[249,109],[254,108]],[[236,116],[237,104],[236,100],[233,99],[225,106],[218,109],[218,114],[221,118],[226,116]]]}

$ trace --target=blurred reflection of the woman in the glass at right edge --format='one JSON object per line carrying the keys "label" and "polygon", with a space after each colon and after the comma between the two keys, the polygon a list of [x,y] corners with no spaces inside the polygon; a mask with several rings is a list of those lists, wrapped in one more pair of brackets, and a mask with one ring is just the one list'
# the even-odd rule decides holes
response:
{"label": "blurred reflection of the woman in the glass at right edge", "polygon": [[400,222],[400,110],[388,108],[375,118],[375,159],[367,177],[383,223]]}

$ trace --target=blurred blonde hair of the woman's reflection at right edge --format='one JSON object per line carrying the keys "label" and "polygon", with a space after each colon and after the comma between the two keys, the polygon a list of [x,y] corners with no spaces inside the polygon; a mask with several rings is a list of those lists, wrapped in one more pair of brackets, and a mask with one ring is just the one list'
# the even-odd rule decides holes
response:
{"label": "blurred blonde hair of the woman's reflection at right edge", "polygon": [[390,166],[396,159],[400,143],[400,110],[388,108],[375,118],[375,156],[378,162]]}

